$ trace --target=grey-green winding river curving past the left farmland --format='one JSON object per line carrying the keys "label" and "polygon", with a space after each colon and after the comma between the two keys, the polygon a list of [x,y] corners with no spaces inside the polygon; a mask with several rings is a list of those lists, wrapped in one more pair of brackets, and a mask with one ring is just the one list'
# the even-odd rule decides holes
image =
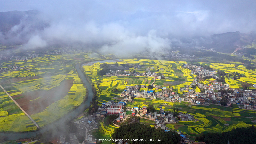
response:
{"label": "grey-green winding river curving past the left farmland", "polygon": [[88,99],[82,103],[78,108],[73,110],[72,112],[67,113],[65,116],[61,117],[60,119],[56,120],[55,122],[51,124],[47,124],[43,126],[41,129],[35,132],[24,132],[24,133],[0,133],[1,136],[8,137],[9,140],[17,140],[19,138],[29,138],[32,136],[36,136],[36,134],[43,133],[46,131],[51,130],[53,127],[64,125],[67,120],[69,120],[72,117],[76,117],[80,115],[86,107],[90,105],[90,102],[93,98],[93,92],[92,92],[92,86],[89,84],[88,80],[84,76],[83,72],[79,68],[79,64],[75,65],[76,71],[81,78],[82,82],[86,85],[87,91],[88,91]]}

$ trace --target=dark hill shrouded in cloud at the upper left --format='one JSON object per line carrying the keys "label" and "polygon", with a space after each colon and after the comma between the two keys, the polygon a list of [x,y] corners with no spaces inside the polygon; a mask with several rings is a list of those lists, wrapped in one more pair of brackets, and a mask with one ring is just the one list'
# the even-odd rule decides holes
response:
{"label": "dark hill shrouded in cloud at the upper left", "polygon": [[0,43],[23,44],[29,35],[49,26],[37,10],[0,12]]}

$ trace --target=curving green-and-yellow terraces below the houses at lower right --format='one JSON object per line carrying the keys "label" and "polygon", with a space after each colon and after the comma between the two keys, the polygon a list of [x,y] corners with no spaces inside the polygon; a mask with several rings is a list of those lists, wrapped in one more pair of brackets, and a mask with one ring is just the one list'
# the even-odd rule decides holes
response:
{"label": "curving green-and-yellow terraces below the houses at lower right", "polygon": [[[180,105],[182,112],[194,115],[198,121],[180,121],[177,124],[166,124],[172,130],[180,130],[190,136],[196,136],[206,132],[226,132],[236,127],[254,125],[251,122],[256,119],[256,112],[238,108],[223,106],[192,106],[191,108]],[[252,116],[247,118],[248,114]],[[247,116],[246,116],[247,115]]]}

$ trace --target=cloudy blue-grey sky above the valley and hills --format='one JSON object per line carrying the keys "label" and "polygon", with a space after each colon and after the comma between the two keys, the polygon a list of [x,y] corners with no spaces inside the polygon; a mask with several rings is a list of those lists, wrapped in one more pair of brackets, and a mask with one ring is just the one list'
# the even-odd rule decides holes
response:
{"label": "cloudy blue-grey sky above the valley and hills", "polygon": [[196,44],[200,37],[212,34],[256,31],[255,0],[0,2],[0,12],[34,9],[42,13],[41,20],[49,23],[44,30],[26,35],[24,46],[28,48],[46,47],[57,41],[98,44],[103,52],[145,48],[155,52],[172,47],[173,42],[182,44],[184,38]]}

